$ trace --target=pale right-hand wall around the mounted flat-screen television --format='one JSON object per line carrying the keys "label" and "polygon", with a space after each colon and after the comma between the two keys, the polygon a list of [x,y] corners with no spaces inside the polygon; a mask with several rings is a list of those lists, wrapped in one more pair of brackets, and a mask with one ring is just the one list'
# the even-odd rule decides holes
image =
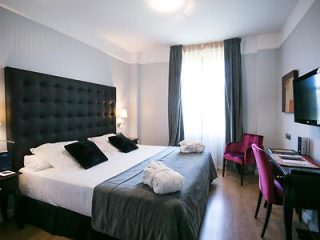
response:
{"label": "pale right-hand wall around the mounted flat-screen television", "polygon": [[[312,6],[300,24],[279,49],[281,79],[286,73],[297,69],[299,76],[320,67],[320,1]],[[311,140],[311,156],[320,161],[320,128],[294,123],[293,114],[281,113],[281,81],[277,90],[279,133],[277,138],[282,146],[297,149],[298,136]],[[284,134],[290,133],[292,140],[285,140]]]}

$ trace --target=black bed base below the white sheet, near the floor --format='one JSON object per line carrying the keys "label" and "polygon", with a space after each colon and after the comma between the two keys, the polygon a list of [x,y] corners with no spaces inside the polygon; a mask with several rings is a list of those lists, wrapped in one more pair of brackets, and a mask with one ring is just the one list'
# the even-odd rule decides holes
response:
{"label": "black bed base below the white sheet, near the floor", "polygon": [[92,229],[91,218],[26,196],[21,199],[21,217],[27,224],[53,235],[79,240],[116,240]]}

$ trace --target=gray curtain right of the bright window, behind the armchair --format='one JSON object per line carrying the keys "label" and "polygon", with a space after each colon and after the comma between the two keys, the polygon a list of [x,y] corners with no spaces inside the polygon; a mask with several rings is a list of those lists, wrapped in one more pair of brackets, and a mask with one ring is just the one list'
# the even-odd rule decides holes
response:
{"label": "gray curtain right of the bright window, behind the armchair", "polygon": [[226,142],[242,138],[242,84],[240,38],[224,41]]}

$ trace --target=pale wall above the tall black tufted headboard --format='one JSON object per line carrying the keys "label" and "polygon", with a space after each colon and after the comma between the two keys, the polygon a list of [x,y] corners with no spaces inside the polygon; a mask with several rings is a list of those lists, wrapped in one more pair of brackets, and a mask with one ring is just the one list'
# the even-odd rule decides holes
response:
{"label": "pale wall above the tall black tufted headboard", "polygon": [[119,106],[129,107],[129,64],[3,8],[0,23],[0,139],[5,139],[5,66],[116,86]]}

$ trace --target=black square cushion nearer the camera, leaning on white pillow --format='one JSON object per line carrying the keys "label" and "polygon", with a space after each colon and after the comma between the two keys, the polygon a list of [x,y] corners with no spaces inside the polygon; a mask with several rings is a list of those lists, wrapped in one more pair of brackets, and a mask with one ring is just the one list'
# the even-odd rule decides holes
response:
{"label": "black square cushion nearer the camera, leaning on white pillow", "polygon": [[97,147],[97,145],[89,140],[71,143],[65,145],[64,148],[85,169],[108,161],[108,158]]}

